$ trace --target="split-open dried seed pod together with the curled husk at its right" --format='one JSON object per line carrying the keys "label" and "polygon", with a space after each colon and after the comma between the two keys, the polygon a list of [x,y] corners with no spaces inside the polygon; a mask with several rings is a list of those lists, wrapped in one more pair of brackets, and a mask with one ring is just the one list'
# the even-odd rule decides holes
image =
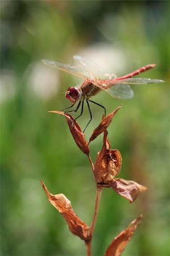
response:
{"label": "split-open dried seed pod together with the curled husk at its right", "polygon": [[94,163],[94,176],[96,183],[102,187],[111,187],[120,196],[125,197],[132,203],[140,192],[147,191],[147,187],[132,180],[115,178],[121,171],[122,156],[117,149],[110,149],[110,142],[107,138],[107,131],[104,131],[103,147],[98,152]]}

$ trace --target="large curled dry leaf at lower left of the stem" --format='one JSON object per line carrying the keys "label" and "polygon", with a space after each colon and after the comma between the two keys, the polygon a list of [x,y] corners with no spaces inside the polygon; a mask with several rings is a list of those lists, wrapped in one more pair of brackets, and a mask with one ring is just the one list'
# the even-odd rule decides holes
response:
{"label": "large curled dry leaf at lower left of the stem", "polygon": [[47,187],[43,181],[40,181],[44,188],[45,193],[48,196],[49,202],[55,207],[59,213],[64,217],[69,226],[69,230],[77,237],[80,237],[82,240],[89,240],[89,226],[82,221],[76,213],[74,213],[71,202],[67,199],[67,197],[63,194],[52,195],[49,193]]}

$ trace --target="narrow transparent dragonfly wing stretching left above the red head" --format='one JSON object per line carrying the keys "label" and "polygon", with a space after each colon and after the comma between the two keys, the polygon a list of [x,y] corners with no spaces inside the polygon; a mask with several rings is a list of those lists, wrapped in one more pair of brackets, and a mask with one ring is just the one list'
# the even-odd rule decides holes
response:
{"label": "narrow transparent dragonfly wing stretching left above the red head", "polygon": [[42,60],[42,62],[50,67],[57,68],[61,71],[80,77],[81,79],[91,79],[90,73],[85,68],[71,66],[51,60]]}

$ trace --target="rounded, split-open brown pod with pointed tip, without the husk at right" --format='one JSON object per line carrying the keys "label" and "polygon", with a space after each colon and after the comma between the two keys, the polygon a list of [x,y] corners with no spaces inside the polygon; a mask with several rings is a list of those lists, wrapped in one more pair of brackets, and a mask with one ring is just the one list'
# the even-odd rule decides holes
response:
{"label": "rounded, split-open brown pod with pointed tip, without the husk at right", "polygon": [[110,149],[110,143],[107,139],[107,131],[104,131],[103,147],[98,152],[96,162],[94,163],[94,175],[96,183],[109,185],[114,177],[119,174],[122,166],[121,152],[117,149]]}

